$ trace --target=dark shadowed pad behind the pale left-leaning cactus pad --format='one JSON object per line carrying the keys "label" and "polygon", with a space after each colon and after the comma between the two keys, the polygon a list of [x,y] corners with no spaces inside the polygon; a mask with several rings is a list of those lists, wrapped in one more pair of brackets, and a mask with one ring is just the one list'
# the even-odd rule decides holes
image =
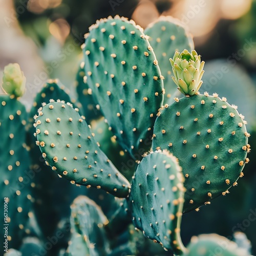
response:
{"label": "dark shadowed pad behind the pale left-leaning cactus pad", "polygon": [[[81,188],[72,186],[67,180],[57,177],[51,167],[46,165],[45,159],[42,158],[42,153],[39,147],[36,146],[37,139],[34,136],[36,135],[33,126],[34,117],[38,115],[37,110],[41,103],[49,102],[50,99],[71,102],[68,93],[69,90],[57,79],[48,80],[34,99],[27,125],[27,143],[30,147],[29,153],[32,168],[35,172],[33,177],[34,186],[31,188],[32,196],[35,198],[34,211],[45,237],[51,237],[57,232],[58,222],[70,216],[70,204],[78,195],[84,193],[84,190],[87,190],[85,188],[81,191]],[[64,191],[66,193],[65,197],[62,196]],[[48,207],[45,207],[46,204]],[[65,237],[67,236],[65,235]]]}

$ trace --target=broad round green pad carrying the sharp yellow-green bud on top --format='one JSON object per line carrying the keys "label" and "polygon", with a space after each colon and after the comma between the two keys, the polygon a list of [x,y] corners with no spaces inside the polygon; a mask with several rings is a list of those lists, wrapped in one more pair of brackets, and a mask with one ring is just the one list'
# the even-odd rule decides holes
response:
{"label": "broad round green pad carrying the sharp yellow-green bud on top", "polygon": [[183,212],[209,204],[237,185],[250,151],[243,116],[218,94],[176,98],[159,112],[153,150],[168,149],[185,176]]}

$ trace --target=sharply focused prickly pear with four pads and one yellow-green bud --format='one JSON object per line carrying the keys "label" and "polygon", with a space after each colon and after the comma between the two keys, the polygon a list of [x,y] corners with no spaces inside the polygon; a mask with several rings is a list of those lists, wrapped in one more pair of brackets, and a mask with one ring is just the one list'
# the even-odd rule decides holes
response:
{"label": "sharply focused prickly pear with four pads and one yellow-green bud", "polygon": [[[119,223],[125,223],[126,228],[133,221],[135,228],[165,250],[186,255],[190,252],[180,238],[182,212],[198,210],[237,185],[249,161],[246,121],[226,98],[199,94],[204,62],[195,50],[175,52],[170,59],[173,81],[185,97],[175,97],[172,104],[161,107],[163,77],[140,27],[119,16],[109,17],[91,26],[85,37],[84,82],[110,126],[103,131],[111,130],[123,151],[138,163],[132,186],[100,150],[86,117],[80,116],[70,103],[50,100],[43,104],[35,120],[36,143],[61,177],[125,198],[105,226],[115,242],[125,234]],[[152,136],[153,144],[148,136]],[[108,153],[109,143],[105,144],[102,148]],[[196,187],[198,180],[200,189]],[[78,226],[88,223],[88,217],[78,216]],[[71,250],[83,248],[94,254],[88,241],[83,240],[87,231],[79,232],[73,233]],[[127,246],[119,242],[124,247],[115,244],[113,252]]]}

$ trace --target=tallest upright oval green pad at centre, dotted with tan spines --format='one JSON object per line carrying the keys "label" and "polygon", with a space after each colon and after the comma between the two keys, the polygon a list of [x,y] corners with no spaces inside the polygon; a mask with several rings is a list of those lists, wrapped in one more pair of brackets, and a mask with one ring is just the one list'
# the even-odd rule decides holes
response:
{"label": "tallest upright oval green pad at centre, dotted with tan spines", "polygon": [[155,53],[142,29],[124,17],[100,19],[85,37],[91,93],[120,145],[140,159],[150,149],[156,113],[163,102]]}

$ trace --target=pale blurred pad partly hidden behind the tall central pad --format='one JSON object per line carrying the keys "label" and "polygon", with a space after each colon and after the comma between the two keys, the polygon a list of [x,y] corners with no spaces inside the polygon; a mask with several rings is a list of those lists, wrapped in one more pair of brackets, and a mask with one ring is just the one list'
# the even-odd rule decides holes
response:
{"label": "pale blurred pad partly hidden behind the tall central pad", "polygon": [[171,78],[173,71],[169,58],[172,58],[175,52],[181,52],[184,49],[193,50],[193,37],[180,20],[171,16],[160,16],[155,22],[148,25],[144,33],[150,36],[148,41],[154,49],[161,73],[164,76],[164,101],[166,102],[178,92],[177,86]]}

